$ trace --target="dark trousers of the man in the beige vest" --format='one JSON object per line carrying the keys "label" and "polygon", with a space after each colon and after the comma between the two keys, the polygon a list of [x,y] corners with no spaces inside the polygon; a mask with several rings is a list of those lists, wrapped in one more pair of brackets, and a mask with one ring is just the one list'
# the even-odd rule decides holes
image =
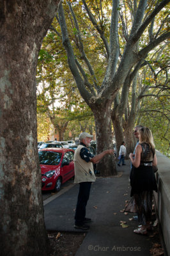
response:
{"label": "dark trousers of the man in the beige vest", "polygon": [[77,206],[75,211],[75,225],[82,225],[86,216],[86,205],[89,199],[91,182],[81,182],[79,185],[79,195],[77,198]]}

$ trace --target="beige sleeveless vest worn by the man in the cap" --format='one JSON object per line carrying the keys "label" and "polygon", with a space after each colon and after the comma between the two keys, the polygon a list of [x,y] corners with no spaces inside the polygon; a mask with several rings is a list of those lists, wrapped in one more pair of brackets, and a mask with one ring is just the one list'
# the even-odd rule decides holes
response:
{"label": "beige sleeveless vest worn by the man in the cap", "polygon": [[75,154],[73,157],[75,170],[74,183],[94,182],[96,180],[95,173],[93,170],[93,163],[87,163],[80,156],[80,151],[83,147],[84,146],[79,145],[75,150]]}

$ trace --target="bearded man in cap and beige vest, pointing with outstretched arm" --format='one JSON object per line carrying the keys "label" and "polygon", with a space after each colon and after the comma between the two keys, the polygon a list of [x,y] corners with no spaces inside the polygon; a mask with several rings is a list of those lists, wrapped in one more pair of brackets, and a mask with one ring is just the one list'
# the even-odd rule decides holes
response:
{"label": "bearded man in cap and beige vest, pointing with outstretched arm", "polygon": [[97,156],[93,156],[89,152],[88,147],[93,135],[88,132],[82,132],[79,135],[80,145],[75,150],[73,157],[75,180],[74,183],[79,183],[79,195],[77,198],[77,206],[75,211],[75,228],[89,229],[86,223],[91,221],[91,218],[86,218],[86,205],[89,199],[91,182],[95,182],[96,177],[93,170],[93,163],[98,163],[105,154],[114,154],[113,149],[104,150]]}

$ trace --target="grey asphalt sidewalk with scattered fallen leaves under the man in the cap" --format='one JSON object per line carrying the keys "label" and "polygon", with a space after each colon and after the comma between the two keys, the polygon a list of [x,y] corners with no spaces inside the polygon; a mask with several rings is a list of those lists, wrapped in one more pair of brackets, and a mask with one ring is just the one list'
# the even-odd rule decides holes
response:
{"label": "grey asphalt sidewalk with scattered fallen leaves under the man in the cap", "polygon": [[[125,163],[127,165],[117,166],[117,176],[98,177],[92,184],[86,217],[93,221],[88,231],[73,228],[79,184],[44,205],[47,230],[86,232],[75,256],[150,255],[151,232],[147,236],[134,234],[138,221],[128,220],[134,214],[121,212],[125,201],[130,199],[130,161]],[[120,221],[127,221],[128,227],[123,228]]]}

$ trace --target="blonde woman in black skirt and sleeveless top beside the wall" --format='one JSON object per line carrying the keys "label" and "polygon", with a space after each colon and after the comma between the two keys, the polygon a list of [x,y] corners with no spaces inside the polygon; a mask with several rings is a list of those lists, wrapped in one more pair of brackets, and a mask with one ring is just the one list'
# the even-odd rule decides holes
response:
{"label": "blonde woman in black skirt and sleeveless top beside the wall", "polygon": [[130,177],[131,193],[138,214],[139,225],[135,234],[147,234],[150,230],[153,190],[157,191],[157,182],[153,166],[157,165],[153,136],[148,127],[139,129],[139,144],[135,149],[135,157],[129,155],[132,161],[132,175]]}

